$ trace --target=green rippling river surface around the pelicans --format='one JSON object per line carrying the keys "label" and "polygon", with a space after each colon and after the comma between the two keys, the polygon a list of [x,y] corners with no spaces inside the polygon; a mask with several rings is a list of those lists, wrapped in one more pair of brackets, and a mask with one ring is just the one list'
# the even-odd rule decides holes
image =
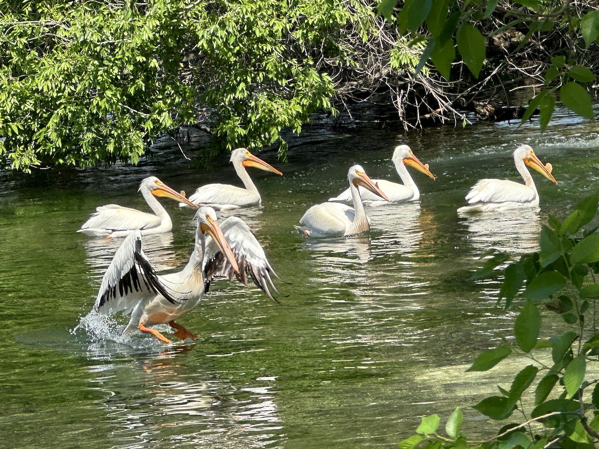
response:
{"label": "green rippling river surface around the pelicans", "polygon": [[[395,180],[400,142],[437,176],[409,168],[419,202],[367,208],[365,235],[297,233],[308,207],[346,189],[349,166]],[[540,210],[459,217],[476,180],[518,180],[512,151],[524,143],[559,183],[534,172]],[[469,406],[509,387],[518,364],[465,369],[512,338],[515,313],[497,307],[497,277],[468,277],[489,248],[537,248],[550,214],[564,218],[597,190],[596,122],[563,114],[543,134],[507,122],[407,136],[308,128],[287,163],[259,154],[283,176],[250,168],[263,204],[240,213],[286,282],[280,304],[219,280],[180,320],[198,335],[192,344],[123,339],[124,318],[89,315],[120,240],[75,231],[99,205],[146,210],[137,189],[149,175],[188,194],[240,184],[226,159],[210,169],[184,159],[201,144],[161,145],[136,167],[0,173],[2,447],[391,448],[422,415],[444,423],[458,405],[470,435],[501,426]],[[173,232],[144,238],[144,251],[159,272],[176,271],[192,250],[193,211],[161,201]],[[555,320],[544,316],[548,334]]]}

